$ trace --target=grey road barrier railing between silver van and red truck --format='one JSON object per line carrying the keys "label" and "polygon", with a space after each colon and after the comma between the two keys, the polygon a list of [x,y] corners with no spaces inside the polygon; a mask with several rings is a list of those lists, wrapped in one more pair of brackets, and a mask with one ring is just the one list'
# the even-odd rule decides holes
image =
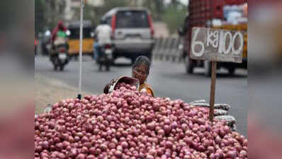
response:
{"label": "grey road barrier railing between silver van and red truck", "polygon": [[162,61],[182,61],[183,47],[180,47],[183,43],[182,40],[180,37],[157,38],[152,51],[152,57]]}

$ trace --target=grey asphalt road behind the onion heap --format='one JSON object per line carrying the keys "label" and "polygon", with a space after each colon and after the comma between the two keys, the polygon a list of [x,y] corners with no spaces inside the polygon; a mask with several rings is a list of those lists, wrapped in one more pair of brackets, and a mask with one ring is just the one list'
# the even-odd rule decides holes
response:
{"label": "grey asphalt road behind the onion heap", "polygon": [[[103,87],[112,78],[130,76],[130,61],[118,59],[109,72],[99,72],[98,66],[90,57],[84,57],[82,64],[82,90],[91,93],[102,93]],[[202,69],[196,73],[185,73],[184,65],[167,61],[153,61],[147,83],[159,97],[181,99],[185,102],[210,98],[210,78]],[[70,61],[64,71],[53,71],[47,57],[35,57],[35,73],[47,78],[56,78],[70,86],[77,87],[79,82],[79,61]],[[247,71],[237,70],[235,76],[228,76],[227,71],[218,71],[215,103],[231,105],[230,114],[237,119],[239,133],[247,136]]]}

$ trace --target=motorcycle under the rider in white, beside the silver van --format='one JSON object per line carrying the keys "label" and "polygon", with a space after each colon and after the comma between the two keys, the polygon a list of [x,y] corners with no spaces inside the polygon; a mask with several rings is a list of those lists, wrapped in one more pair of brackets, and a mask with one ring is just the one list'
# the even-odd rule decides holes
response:
{"label": "motorcycle under the rider in white, beside the silver van", "polygon": [[99,71],[102,71],[103,66],[106,67],[106,71],[110,71],[110,66],[113,64],[113,45],[105,44],[101,46],[100,52],[97,58],[97,64],[99,65]]}

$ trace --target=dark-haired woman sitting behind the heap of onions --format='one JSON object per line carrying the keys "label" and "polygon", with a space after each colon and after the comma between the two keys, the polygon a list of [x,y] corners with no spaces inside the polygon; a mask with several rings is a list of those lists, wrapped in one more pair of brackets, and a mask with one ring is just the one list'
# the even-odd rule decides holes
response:
{"label": "dark-haired woman sitting behind the heap of onions", "polygon": [[[150,73],[150,59],[148,59],[145,56],[137,57],[135,60],[133,66],[132,66],[132,77],[137,78],[140,82],[139,86],[139,92],[146,92],[151,94],[154,97],[154,92],[152,88],[145,83],[147,81],[147,77]],[[103,93],[108,93],[108,88],[110,88],[111,85],[113,85],[117,81],[117,79],[112,79],[110,83],[106,85],[106,87],[103,90]]]}

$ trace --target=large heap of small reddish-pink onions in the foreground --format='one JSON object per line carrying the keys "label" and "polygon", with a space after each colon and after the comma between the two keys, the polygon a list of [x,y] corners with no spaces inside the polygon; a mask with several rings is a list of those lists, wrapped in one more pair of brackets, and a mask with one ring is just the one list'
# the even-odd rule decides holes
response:
{"label": "large heap of small reddish-pink onions in the foreground", "polygon": [[122,83],[35,117],[35,158],[247,158],[247,139],[208,110]]}

